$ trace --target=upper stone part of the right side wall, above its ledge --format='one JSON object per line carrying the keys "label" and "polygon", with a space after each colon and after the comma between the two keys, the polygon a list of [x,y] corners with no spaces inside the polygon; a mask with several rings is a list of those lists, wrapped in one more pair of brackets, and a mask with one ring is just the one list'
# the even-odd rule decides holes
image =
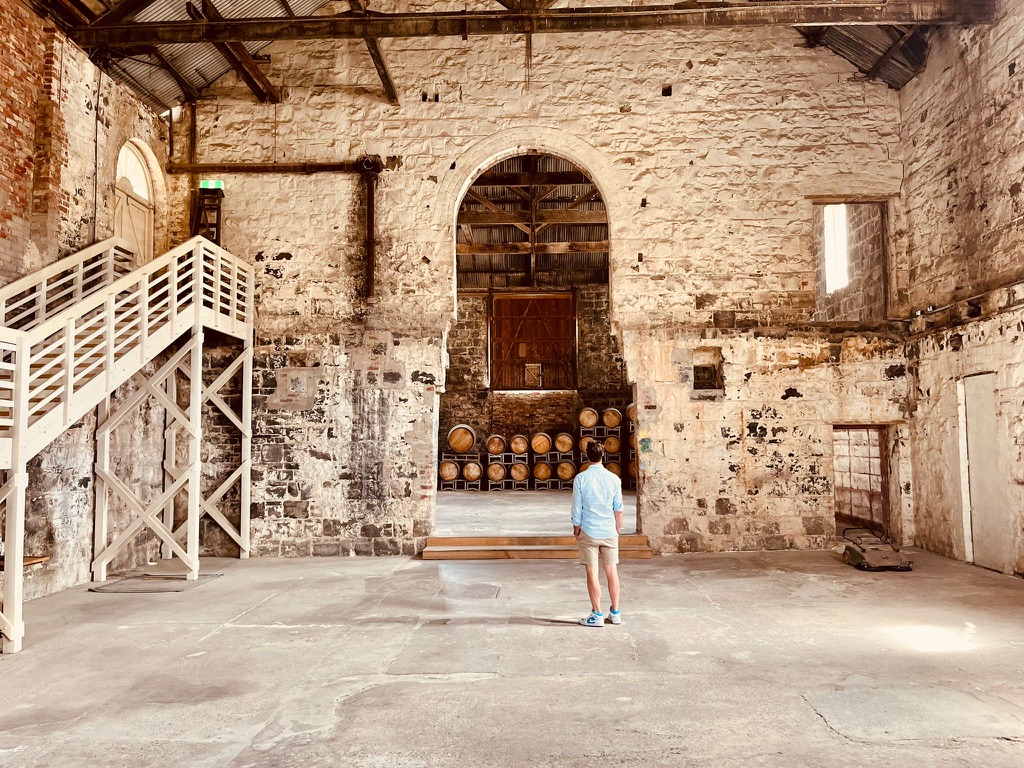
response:
{"label": "upper stone part of the right side wall, above its ledge", "polygon": [[937,30],[928,68],[900,92],[910,306],[1024,280],[1024,5]]}

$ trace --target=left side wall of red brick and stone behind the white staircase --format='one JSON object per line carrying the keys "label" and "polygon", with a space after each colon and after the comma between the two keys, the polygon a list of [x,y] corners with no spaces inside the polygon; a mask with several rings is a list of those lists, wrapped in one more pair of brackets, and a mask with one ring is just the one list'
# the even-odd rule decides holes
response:
{"label": "left side wall of red brick and stone behind the white staircase", "polygon": [[[11,127],[0,133],[0,279],[31,273],[112,234],[117,156],[130,138],[147,148],[156,249],[166,250],[163,124],[17,0],[0,0],[0,110]],[[131,389],[122,388],[115,400]],[[162,409],[143,409],[115,436],[116,469],[143,498],[162,486],[163,423]],[[29,598],[88,579],[94,433],[90,415],[30,463],[26,553],[50,560],[28,572]],[[126,520],[125,509],[115,504],[112,536]],[[112,566],[129,567],[156,554],[153,538],[142,536]]]}

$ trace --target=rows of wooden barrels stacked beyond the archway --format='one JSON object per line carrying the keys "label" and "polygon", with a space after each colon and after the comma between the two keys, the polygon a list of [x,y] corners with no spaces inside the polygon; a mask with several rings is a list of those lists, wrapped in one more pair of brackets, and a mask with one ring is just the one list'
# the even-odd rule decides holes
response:
{"label": "rows of wooden barrels stacked beyond the archway", "polygon": [[468,424],[447,432],[446,449],[437,468],[442,490],[524,490],[572,487],[575,475],[587,468],[587,443],[604,443],[604,464],[636,487],[636,407],[579,414],[579,434],[535,432],[509,437],[492,434],[479,442]]}

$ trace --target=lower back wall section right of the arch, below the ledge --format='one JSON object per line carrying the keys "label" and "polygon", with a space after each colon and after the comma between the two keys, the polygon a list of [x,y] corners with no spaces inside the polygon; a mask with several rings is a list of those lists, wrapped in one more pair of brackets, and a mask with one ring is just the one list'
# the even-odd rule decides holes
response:
{"label": "lower back wall section right of the arch, below the ledge", "polygon": [[[721,350],[725,389],[692,388],[694,352]],[[892,425],[890,527],[913,521],[899,336],[819,331],[626,335],[637,374],[640,525],[662,552],[818,549],[835,536],[834,424]],[[901,482],[902,481],[902,482]]]}

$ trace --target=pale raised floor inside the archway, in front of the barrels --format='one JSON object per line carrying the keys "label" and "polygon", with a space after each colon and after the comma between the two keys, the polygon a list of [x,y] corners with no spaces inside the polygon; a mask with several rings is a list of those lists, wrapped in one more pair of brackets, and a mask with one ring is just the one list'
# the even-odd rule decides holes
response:
{"label": "pale raised floor inside the archway, in front of the barrels", "polygon": [[[571,490],[443,490],[434,536],[570,536]],[[623,532],[637,532],[637,492],[623,492]]]}

